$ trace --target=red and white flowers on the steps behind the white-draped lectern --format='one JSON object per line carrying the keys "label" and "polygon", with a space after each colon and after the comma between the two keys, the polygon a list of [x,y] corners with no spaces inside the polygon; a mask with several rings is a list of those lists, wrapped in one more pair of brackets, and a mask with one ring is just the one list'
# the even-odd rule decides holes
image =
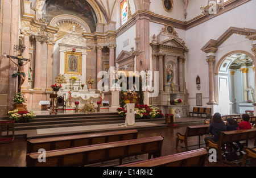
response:
{"label": "red and white flowers on the steps behind the white-draped lectern", "polygon": [[[119,107],[117,111],[122,117],[125,117],[127,113],[122,107]],[[135,112],[135,119],[154,119],[163,117],[162,110],[159,110],[158,107],[152,107],[152,105],[135,105]]]}

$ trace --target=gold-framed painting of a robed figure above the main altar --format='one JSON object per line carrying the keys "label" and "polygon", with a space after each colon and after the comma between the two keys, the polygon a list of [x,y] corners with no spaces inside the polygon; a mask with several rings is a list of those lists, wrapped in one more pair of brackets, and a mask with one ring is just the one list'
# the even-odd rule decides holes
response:
{"label": "gold-framed painting of a robed figure above the main altar", "polygon": [[82,74],[82,54],[80,52],[65,52],[65,74]]}

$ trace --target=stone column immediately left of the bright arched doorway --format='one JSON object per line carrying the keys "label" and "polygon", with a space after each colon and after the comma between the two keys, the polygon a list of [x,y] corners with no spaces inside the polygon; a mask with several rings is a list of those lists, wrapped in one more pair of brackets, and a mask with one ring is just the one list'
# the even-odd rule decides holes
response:
{"label": "stone column immediately left of the bright arched doorway", "polygon": [[209,102],[207,105],[216,104],[214,100],[214,80],[213,80],[213,63],[215,61],[215,56],[207,56],[208,63],[208,77],[209,77]]}

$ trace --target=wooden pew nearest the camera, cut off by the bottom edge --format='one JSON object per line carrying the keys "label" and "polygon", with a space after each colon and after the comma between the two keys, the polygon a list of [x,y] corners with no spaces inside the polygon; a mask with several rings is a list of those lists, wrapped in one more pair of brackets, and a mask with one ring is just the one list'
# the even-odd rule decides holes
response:
{"label": "wooden pew nearest the camera, cut off by the bottom edge", "polygon": [[181,152],[141,162],[119,165],[118,167],[203,167],[208,151],[205,148]]}

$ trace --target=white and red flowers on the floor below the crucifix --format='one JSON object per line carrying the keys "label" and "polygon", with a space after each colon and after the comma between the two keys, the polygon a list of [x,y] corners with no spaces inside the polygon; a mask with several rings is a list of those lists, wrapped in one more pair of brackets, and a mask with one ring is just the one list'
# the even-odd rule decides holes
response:
{"label": "white and red flowers on the floor below the crucifix", "polygon": [[33,111],[18,111],[15,109],[13,111],[8,111],[9,119],[15,121],[15,123],[30,122],[36,117]]}

